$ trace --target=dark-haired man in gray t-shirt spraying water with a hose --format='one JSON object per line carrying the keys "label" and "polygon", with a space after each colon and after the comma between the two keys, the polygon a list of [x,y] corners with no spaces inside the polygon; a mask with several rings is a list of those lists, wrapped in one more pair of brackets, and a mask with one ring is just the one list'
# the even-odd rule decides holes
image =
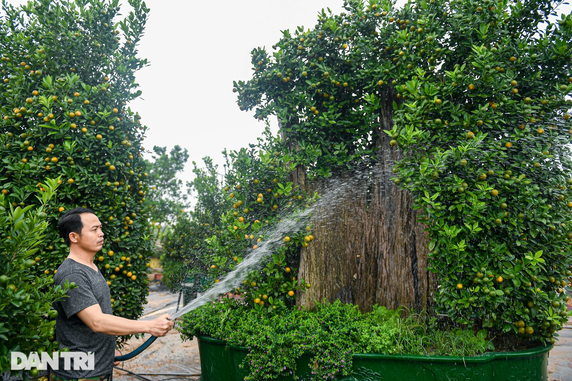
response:
{"label": "dark-haired man in gray t-shirt spraying water with a hose", "polygon": [[54,302],[58,311],[55,332],[61,348],[71,351],[93,352],[93,370],[63,369],[53,371],[53,380],[94,379],[103,380],[113,372],[116,335],[149,333],[165,336],[173,322],[165,314],[153,320],[129,320],[114,316],[109,286],[93,257],[101,250],[104,233],[101,222],[93,211],[75,208],[66,212],[58,223],[59,234],[70,248],[70,254],[55,274],[55,284],[65,281],[77,284],[67,291],[66,298]]}

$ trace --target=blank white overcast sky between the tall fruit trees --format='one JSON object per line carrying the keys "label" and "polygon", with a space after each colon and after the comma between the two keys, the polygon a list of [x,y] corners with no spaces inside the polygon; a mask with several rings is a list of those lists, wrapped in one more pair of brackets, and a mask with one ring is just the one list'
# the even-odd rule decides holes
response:
{"label": "blank white overcast sky between the tall fruit trees", "polygon": [[[23,0],[12,0],[23,3]],[[127,4],[127,0],[123,0]],[[403,4],[405,0],[399,0]],[[267,47],[280,30],[313,28],[317,13],[330,7],[335,14],[343,0],[241,0],[216,3],[189,0],[146,0],[150,8],[139,56],[148,67],[137,73],[143,94],[130,103],[141,122],[149,126],[143,142],[147,149],[180,145],[189,151],[183,181],[192,179],[194,160],[209,155],[223,173],[221,151],[239,150],[256,143],[264,122],[252,112],[240,111],[232,81],[252,77],[250,51]],[[128,13],[122,7],[122,13]],[[561,11],[570,13],[570,6]],[[174,115],[174,116],[173,116]],[[277,131],[276,118],[271,118]],[[150,155],[147,156],[150,158]]]}

